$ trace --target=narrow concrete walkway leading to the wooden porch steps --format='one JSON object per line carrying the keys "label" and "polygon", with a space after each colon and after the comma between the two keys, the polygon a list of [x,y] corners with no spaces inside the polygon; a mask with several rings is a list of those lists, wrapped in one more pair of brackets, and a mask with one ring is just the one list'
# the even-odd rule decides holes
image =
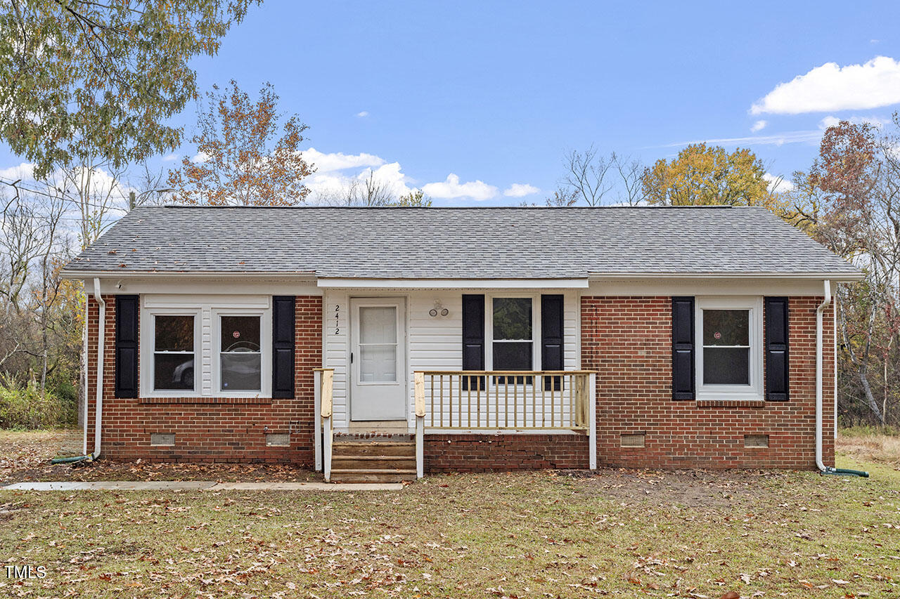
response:
{"label": "narrow concrete walkway leading to the wooden porch steps", "polygon": [[25,482],[0,485],[0,491],[400,491],[402,483],[222,482],[147,480],[103,482]]}

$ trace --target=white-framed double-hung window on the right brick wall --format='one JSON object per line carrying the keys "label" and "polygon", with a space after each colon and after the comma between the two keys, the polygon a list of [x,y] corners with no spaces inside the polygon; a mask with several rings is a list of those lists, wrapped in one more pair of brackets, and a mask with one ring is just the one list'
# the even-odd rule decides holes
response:
{"label": "white-framed double-hung window on the right brick wall", "polygon": [[697,299],[698,399],[762,398],[762,299]]}

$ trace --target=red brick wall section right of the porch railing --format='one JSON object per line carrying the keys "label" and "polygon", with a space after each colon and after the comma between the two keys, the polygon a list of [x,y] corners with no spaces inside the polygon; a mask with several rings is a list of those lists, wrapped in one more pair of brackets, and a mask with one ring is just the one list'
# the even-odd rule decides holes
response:
{"label": "red brick wall section right of the porch railing", "polygon": [[[671,298],[581,299],[581,367],[597,381],[598,463],[640,468],[815,468],[815,308],[789,301],[790,399],[760,406],[671,398]],[[824,462],[834,463],[833,319],[824,314]],[[715,407],[709,403],[716,403]],[[645,434],[644,448],[621,447]],[[745,449],[745,434],[769,447]]]}

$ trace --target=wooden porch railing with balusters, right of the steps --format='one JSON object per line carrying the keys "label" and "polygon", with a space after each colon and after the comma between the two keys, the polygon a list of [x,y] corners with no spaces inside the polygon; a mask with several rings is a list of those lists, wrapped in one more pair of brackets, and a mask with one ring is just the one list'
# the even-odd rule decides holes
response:
{"label": "wooden porch railing with balusters, right of the steps", "polygon": [[438,429],[588,431],[593,371],[416,371],[425,426]]}

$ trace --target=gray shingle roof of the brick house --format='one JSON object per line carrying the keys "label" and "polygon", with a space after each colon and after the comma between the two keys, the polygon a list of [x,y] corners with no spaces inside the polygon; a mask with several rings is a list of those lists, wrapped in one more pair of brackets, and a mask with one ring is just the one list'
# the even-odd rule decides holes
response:
{"label": "gray shingle roof of the brick house", "polygon": [[66,271],[390,279],[859,273],[768,210],[725,207],[140,207]]}

